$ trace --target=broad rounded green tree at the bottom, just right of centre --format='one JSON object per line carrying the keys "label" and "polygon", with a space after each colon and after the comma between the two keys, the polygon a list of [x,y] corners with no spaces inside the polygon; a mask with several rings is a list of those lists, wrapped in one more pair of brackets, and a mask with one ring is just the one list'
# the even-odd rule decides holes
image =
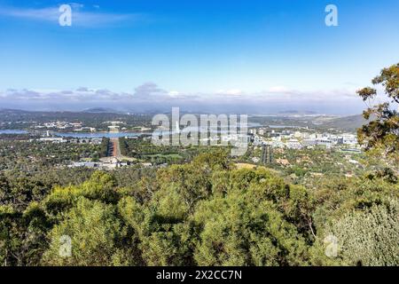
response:
{"label": "broad rounded green tree at the bottom, just right of centre", "polygon": [[194,220],[202,229],[194,258],[200,265],[306,264],[307,248],[294,225],[270,201],[247,194],[201,202]]}

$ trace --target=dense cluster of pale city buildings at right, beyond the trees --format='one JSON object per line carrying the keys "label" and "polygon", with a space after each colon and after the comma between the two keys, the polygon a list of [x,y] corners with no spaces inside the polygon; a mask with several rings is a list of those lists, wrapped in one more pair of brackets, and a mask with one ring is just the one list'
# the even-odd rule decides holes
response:
{"label": "dense cluster of pale city buildings at right, beyond the trees", "polygon": [[352,133],[331,134],[317,133],[300,130],[267,130],[250,129],[254,146],[268,145],[275,148],[301,149],[303,147],[325,146],[347,146],[358,148],[357,138]]}

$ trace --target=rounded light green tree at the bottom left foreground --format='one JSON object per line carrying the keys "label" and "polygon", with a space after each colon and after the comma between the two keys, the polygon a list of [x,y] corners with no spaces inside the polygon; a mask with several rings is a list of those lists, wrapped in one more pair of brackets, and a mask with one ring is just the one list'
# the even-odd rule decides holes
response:
{"label": "rounded light green tree at the bottom left foreground", "polygon": [[[112,265],[123,237],[115,207],[79,197],[65,219],[49,233],[50,248],[43,255],[49,265]],[[71,256],[60,255],[62,236],[71,238]]]}

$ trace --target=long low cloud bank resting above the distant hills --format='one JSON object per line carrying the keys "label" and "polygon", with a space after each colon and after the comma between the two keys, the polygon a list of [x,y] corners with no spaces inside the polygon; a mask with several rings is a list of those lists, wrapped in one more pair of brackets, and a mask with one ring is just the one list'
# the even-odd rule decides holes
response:
{"label": "long low cloud bank resting above the distant hills", "polygon": [[82,110],[102,106],[126,112],[164,112],[172,106],[179,106],[184,111],[196,113],[272,114],[298,110],[358,114],[364,109],[364,104],[355,91],[299,91],[278,86],[257,92],[219,90],[208,93],[184,93],[162,89],[156,83],[144,83],[132,92],[114,92],[89,87],[62,91],[0,91],[0,108]]}

